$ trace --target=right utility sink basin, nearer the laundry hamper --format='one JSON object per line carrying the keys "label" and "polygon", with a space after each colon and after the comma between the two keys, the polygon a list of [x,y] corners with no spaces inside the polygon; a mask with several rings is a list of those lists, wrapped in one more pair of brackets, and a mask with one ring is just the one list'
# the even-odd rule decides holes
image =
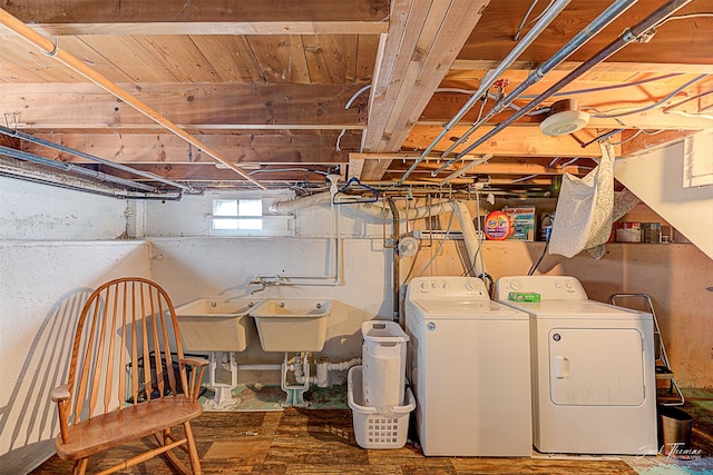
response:
{"label": "right utility sink basin, nearer the laundry hamper", "polygon": [[321,352],[331,300],[267,299],[251,311],[265,352]]}

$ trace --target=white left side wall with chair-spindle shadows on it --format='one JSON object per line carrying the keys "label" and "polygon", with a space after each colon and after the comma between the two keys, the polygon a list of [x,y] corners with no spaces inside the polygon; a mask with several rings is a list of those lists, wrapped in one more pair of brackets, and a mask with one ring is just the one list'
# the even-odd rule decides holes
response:
{"label": "white left side wall with chair-spindle shadows on it", "polygon": [[[124,232],[126,202],[0,178],[0,474],[55,452],[57,408],[74,321],[110,278],[149,276],[149,244]],[[69,240],[72,239],[72,240]]]}

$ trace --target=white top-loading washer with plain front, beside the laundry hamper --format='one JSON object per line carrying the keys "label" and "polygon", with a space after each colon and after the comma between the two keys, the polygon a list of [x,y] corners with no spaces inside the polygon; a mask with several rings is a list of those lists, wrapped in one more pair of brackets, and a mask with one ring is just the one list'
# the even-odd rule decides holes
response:
{"label": "white top-loading washer with plain front, beside the laundry hamper", "polygon": [[531,456],[528,315],[473,277],[414,278],[404,305],[423,454]]}

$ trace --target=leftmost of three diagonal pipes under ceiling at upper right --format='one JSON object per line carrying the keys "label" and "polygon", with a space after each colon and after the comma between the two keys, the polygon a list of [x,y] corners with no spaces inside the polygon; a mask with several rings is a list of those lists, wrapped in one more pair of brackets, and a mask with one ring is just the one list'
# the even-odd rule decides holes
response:
{"label": "leftmost of three diagonal pipes under ceiling at upper right", "polygon": [[399,182],[398,182],[399,186],[403,184],[403,180],[406,180],[408,178],[408,176],[411,175],[411,172],[413,170],[416,170],[416,167],[418,167],[418,165],[423,159],[426,159],[428,154],[430,154],[431,150],[433,150],[433,147],[436,147],[436,145],[443,137],[446,137],[446,135],[450,131],[450,129],[452,129],[453,126],[456,126],[456,123],[458,123],[458,121],[472,108],[472,106],[482,97],[482,95],[485,95],[488,91],[488,89],[490,89],[490,87],[498,79],[498,76],[502,71],[508,69],[512,65],[512,62],[515,62],[515,60],[535,41],[535,39],[565,9],[565,7],[567,7],[567,4],[570,1],[572,0],[557,0],[557,1],[555,1],[555,3],[551,6],[551,8],[549,8],[546,12],[544,12],[541,18],[537,21],[537,23],[535,23],[533,29],[529,30],[527,32],[527,34],[525,34],[525,37],[522,37],[522,40],[516,44],[516,47],[502,60],[502,62],[500,62],[500,65],[498,65],[497,68],[490,70],[486,75],[486,77],[480,80],[480,85],[478,86],[478,90],[476,92],[473,92],[472,96],[470,96],[470,99],[468,99],[468,101],[463,105],[463,107],[460,108],[458,113],[456,113],[456,116],[452,119],[450,119],[450,121],[443,127],[443,129],[438,135],[438,137],[436,137],[433,139],[433,141],[431,141],[431,144],[426,148],[426,150],[423,150],[421,156],[413,162],[413,165],[411,165],[411,168],[409,168],[403,174],[403,176],[399,179]]}

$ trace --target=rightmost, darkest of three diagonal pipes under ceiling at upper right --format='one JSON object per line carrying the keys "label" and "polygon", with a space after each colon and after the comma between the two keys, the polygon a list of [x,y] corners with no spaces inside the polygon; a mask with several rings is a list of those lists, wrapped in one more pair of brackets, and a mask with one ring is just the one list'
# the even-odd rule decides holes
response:
{"label": "rightmost, darkest of three diagonal pipes under ceiling at upper right", "polygon": [[614,55],[615,52],[617,52],[618,50],[624,48],[629,42],[635,41],[638,37],[644,34],[645,32],[647,32],[652,28],[654,28],[662,20],[666,19],[667,17],[673,14],[676,10],[678,10],[682,7],[686,6],[692,0],[670,0],[665,4],[663,4],[661,8],[658,8],[656,11],[651,13],[648,17],[646,17],[645,19],[643,19],[642,21],[636,23],[634,27],[632,27],[632,28],[629,28],[627,30],[624,30],[624,32],[622,34],[619,34],[619,37],[617,39],[615,39],[609,44],[604,47],[602,50],[599,50],[597,53],[595,53],[592,58],[589,58],[588,60],[586,60],[585,62],[579,65],[569,75],[565,76],[563,79],[557,81],[555,85],[553,85],[545,92],[543,92],[541,95],[539,95],[535,99],[533,99],[531,102],[529,102],[528,105],[522,107],[520,110],[515,112],[512,116],[508,117],[502,122],[498,123],[488,133],[486,133],[485,136],[482,136],[481,138],[476,140],[473,144],[468,146],[463,151],[461,151],[460,154],[458,154],[456,156],[453,161],[455,160],[459,160],[460,158],[462,158],[466,155],[468,155],[476,147],[485,144],[492,136],[498,133],[500,130],[505,129],[507,126],[509,126],[510,123],[515,122],[517,119],[519,119],[520,117],[525,116],[527,112],[533,110],[536,106],[538,106],[545,99],[547,99],[548,97],[553,96],[555,92],[559,91],[565,86],[569,85],[572,81],[574,81],[579,76],[582,76],[585,72],[587,72],[594,66],[596,66],[599,62],[603,62],[604,60],[609,58],[612,55]]}

